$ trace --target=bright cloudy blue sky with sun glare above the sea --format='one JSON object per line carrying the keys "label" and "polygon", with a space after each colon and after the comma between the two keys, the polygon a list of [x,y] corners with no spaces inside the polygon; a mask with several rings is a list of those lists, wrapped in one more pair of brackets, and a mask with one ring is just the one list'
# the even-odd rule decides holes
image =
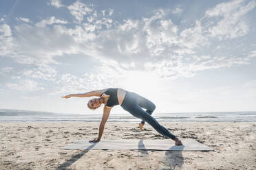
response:
{"label": "bright cloudy blue sky with sun glare above the sea", "polygon": [[[155,112],[256,110],[256,1],[0,1],[0,108],[89,110],[124,88]],[[125,112],[116,106],[111,112]]]}

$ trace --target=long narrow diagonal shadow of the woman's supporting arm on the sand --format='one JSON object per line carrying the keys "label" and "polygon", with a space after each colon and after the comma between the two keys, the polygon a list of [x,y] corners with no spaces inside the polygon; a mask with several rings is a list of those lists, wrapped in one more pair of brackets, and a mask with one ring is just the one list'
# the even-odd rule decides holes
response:
{"label": "long narrow diagonal shadow of the woman's supporting arm on the sand", "polygon": [[63,164],[59,165],[55,170],[64,170],[70,167],[76,160],[80,159],[83,155],[85,155],[90,149],[92,149],[97,143],[93,143],[80,153],[76,154],[75,156],[72,156],[69,160],[66,160]]}

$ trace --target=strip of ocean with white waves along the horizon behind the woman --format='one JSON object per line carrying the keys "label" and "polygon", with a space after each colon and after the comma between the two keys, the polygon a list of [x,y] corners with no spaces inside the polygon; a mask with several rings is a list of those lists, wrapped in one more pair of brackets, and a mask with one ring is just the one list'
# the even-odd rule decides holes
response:
{"label": "strip of ocean with white waves along the horizon behind the woman", "polygon": [[[0,122],[100,122],[102,114],[57,114],[27,110],[0,109]],[[159,122],[256,121],[256,112],[169,112],[153,113]],[[139,122],[128,112],[109,115],[109,122]]]}

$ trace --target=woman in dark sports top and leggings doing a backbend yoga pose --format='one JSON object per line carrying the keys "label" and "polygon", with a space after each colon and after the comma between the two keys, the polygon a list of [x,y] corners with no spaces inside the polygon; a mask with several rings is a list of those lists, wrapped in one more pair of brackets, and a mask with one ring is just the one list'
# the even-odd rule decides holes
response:
{"label": "woman in dark sports top and leggings doing a backbend yoga pose", "polygon": [[[136,93],[131,93],[122,88],[106,88],[103,90],[94,90],[84,94],[71,94],[63,96],[68,99],[70,97],[92,97],[97,96],[100,98],[94,98],[88,101],[87,106],[91,109],[96,109],[100,107],[101,104],[104,104],[105,107],[103,109],[103,117],[100,122],[98,138],[89,141],[92,143],[96,143],[100,141],[101,136],[103,135],[103,130],[105,127],[105,123],[109,117],[109,113],[111,108],[116,105],[120,105],[124,110],[131,113],[134,117],[142,119],[139,124],[140,130],[142,130],[145,121],[149,123],[158,133],[171,138],[175,141],[175,145],[182,145],[182,142],[171,132],[169,132],[165,127],[160,125],[156,119],[154,119],[151,114],[153,110],[155,110],[156,106],[151,101],[146,99],[145,97],[141,97]],[[143,110],[142,108],[145,108]]]}

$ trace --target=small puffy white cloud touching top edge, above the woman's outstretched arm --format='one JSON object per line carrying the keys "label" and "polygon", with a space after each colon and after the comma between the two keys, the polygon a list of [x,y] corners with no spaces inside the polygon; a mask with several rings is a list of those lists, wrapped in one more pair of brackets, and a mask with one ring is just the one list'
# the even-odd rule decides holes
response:
{"label": "small puffy white cloud touching top edge, above the woman's outstretched arm", "polygon": [[75,16],[79,23],[83,21],[83,16],[89,14],[93,10],[92,5],[86,5],[85,3],[81,3],[81,1],[76,1],[67,8],[70,10],[70,13]]}

